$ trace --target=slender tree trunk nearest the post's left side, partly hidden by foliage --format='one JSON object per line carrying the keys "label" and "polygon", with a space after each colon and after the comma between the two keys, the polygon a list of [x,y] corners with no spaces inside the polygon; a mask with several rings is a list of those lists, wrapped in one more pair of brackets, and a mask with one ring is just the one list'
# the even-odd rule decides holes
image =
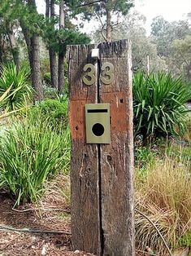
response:
{"label": "slender tree trunk nearest the post's left side, partly hidden by foliage", "polygon": [[[59,29],[64,29],[65,27],[65,11],[64,11],[64,1],[62,0],[59,4]],[[64,86],[64,52],[61,50],[59,52],[59,93],[63,92]]]}

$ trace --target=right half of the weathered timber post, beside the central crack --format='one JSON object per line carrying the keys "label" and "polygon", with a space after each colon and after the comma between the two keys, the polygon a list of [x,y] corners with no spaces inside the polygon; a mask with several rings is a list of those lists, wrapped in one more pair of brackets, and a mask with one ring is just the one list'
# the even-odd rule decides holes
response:
{"label": "right half of the weathered timber post, beside the central crack", "polygon": [[111,144],[101,147],[103,255],[133,256],[132,64],[127,41],[99,45],[102,63],[114,65],[115,79],[100,82],[100,102],[111,104]]}

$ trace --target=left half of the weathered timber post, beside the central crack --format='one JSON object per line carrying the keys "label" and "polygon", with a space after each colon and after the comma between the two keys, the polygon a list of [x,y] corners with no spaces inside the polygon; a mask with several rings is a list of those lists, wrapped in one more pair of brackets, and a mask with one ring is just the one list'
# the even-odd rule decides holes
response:
{"label": "left half of the weathered timber post, beside the central crack", "polygon": [[85,143],[85,104],[95,103],[97,85],[82,82],[85,64],[92,63],[94,46],[70,46],[70,106],[72,134],[72,245],[93,254],[100,252],[100,214],[98,192],[98,145]]}

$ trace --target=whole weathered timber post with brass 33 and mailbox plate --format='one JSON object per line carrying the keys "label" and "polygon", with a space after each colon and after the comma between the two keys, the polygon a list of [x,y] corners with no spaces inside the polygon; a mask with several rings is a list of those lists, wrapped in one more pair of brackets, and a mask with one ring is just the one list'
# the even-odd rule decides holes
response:
{"label": "whole weathered timber post with brass 33 and mailbox plate", "polygon": [[69,59],[72,245],[133,256],[130,44],[70,46]]}

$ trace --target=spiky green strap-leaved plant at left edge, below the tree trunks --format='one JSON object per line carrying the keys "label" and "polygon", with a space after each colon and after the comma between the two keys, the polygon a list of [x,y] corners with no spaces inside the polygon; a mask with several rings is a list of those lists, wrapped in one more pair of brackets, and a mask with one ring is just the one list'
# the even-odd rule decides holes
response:
{"label": "spiky green strap-leaved plant at left edge, below the tree trunks", "polygon": [[0,96],[8,91],[1,108],[7,112],[23,108],[32,97],[32,87],[28,85],[28,69],[17,72],[14,64],[1,66]]}

